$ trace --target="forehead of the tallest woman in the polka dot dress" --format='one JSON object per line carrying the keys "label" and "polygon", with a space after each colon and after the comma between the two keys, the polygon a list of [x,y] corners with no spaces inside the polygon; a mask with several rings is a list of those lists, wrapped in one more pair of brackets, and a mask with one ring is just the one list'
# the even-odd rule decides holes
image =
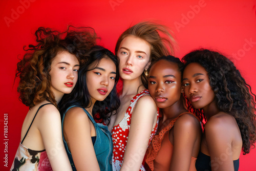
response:
{"label": "forehead of the tallest woman in the polka dot dress", "polygon": [[133,35],[126,36],[121,41],[119,48],[121,47],[125,47],[129,50],[135,51],[150,51],[150,44],[147,41]]}

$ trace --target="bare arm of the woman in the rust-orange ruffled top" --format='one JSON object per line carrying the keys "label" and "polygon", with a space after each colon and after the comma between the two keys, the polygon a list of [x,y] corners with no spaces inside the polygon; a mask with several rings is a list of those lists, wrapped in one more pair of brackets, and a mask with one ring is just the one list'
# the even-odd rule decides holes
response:
{"label": "bare arm of the woman in the rust-orange ruffled top", "polygon": [[191,156],[196,153],[197,157],[199,153],[202,134],[200,123],[194,116],[184,114],[175,122],[173,131],[174,149],[169,170],[187,171]]}

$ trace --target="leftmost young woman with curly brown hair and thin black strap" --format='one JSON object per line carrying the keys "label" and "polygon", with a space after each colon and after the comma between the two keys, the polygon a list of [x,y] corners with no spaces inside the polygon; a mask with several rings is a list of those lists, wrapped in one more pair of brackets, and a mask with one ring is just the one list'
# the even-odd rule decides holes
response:
{"label": "leftmost young woman with curly brown hair and thin black strap", "polygon": [[[30,110],[11,170],[72,170],[57,104],[75,87],[79,54],[86,52],[87,45],[95,44],[95,33],[91,33],[94,31],[70,29],[59,33],[42,27],[35,32],[37,45],[29,45],[31,53],[17,64],[19,98]],[[80,36],[81,47],[74,44],[75,35]]]}

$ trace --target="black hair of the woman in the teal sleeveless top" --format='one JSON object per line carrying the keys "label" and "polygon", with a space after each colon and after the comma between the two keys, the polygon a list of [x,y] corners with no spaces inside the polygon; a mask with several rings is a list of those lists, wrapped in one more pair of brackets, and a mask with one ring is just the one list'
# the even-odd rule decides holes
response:
{"label": "black hair of the woman in the teal sleeveless top", "polygon": [[[110,94],[103,101],[96,101],[92,115],[95,118],[95,114],[99,114],[99,118],[103,120],[109,120],[114,111],[117,112],[117,109],[120,106],[120,100],[116,91],[116,84],[119,79],[118,72],[118,58],[108,49],[105,49],[101,46],[93,47],[86,55],[85,59],[82,60],[81,66],[78,71],[78,80],[76,86],[70,94],[65,94],[61,99],[60,106],[60,114],[63,116],[63,113],[72,106],[79,105],[82,108],[89,108],[92,105],[92,98],[90,96],[90,92],[87,88],[86,82],[86,73],[87,71],[91,71],[99,65],[99,62],[102,58],[110,58],[116,66],[116,77],[115,77],[115,85]],[[90,66],[96,61],[96,65],[94,68],[90,69]]]}

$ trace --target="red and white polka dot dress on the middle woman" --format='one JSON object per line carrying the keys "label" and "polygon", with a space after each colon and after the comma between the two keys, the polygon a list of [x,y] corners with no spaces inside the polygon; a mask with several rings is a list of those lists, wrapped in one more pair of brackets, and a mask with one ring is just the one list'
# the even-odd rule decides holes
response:
{"label": "red and white polka dot dress on the middle woman", "polygon": [[[114,145],[112,167],[113,167],[114,171],[120,170],[122,163],[123,163],[123,155],[125,152],[126,143],[127,143],[127,139],[128,139],[128,135],[129,135],[129,131],[130,131],[133,109],[134,109],[137,101],[141,97],[143,97],[147,94],[149,94],[148,90],[144,90],[144,91],[140,92],[139,94],[135,95],[131,99],[131,104],[127,108],[122,121],[112,128],[112,140],[113,140],[113,145]],[[150,144],[153,136],[156,134],[157,127],[158,127],[158,118],[159,118],[159,109],[157,110],[157,123],[151,132],[151,136],[149,138],[148,145]],[[142,164],[141,164],[140,170],[145,170],[144,166]]]}

